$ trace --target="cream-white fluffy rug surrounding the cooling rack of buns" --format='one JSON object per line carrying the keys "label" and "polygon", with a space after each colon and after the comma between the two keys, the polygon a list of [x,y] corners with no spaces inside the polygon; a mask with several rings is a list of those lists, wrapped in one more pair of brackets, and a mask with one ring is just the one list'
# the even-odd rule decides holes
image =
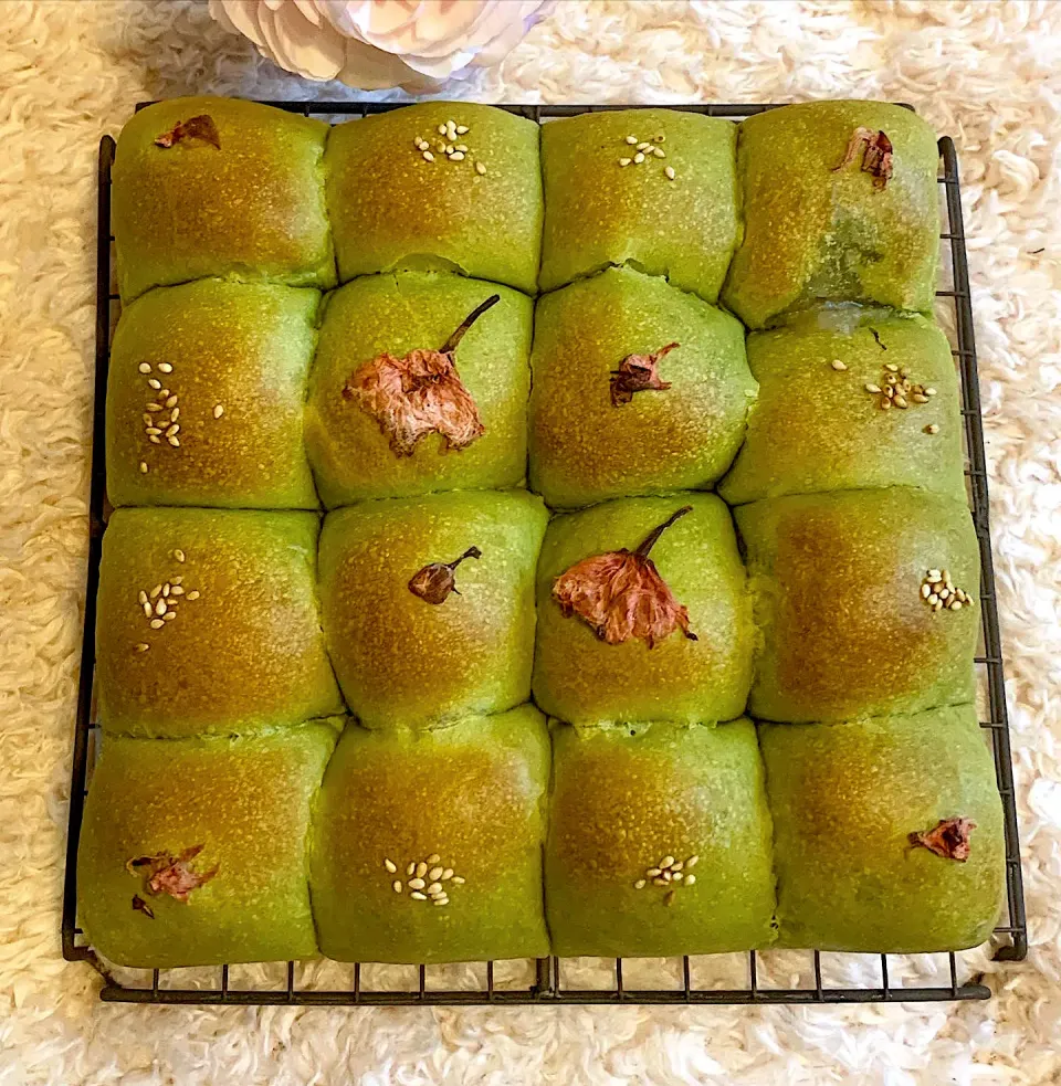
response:
{"label": "cream-white fluffy rug surrounding the cooling rack of buns", "polygon": [[[957,139],[1031,952],[989,1003],[104,1006],[59,946],[85,557],[96,141],[140,99],[304,96],[196,3],[0,6],[0,1084],[1061,1080],[1061,3],[560,2],[451,95],[911,102]],[[321,93],[339,93],[323,88]]]}

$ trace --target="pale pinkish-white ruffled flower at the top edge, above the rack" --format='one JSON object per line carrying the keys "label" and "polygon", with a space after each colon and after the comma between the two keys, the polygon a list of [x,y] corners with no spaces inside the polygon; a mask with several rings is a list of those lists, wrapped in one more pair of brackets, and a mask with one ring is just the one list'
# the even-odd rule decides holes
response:
{"label": "pale pinkish-white ruffled flower at the top edge, above the rack", "polygon": [[496,64],[551,0],[210,0],[274,64],[364,91],[431,91]]}

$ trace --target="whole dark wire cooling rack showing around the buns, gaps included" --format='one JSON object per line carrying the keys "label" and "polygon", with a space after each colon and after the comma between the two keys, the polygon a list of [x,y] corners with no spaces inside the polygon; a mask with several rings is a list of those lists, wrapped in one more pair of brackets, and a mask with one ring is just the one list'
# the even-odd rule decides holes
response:
{"label": "whole dark wire cooling rack showing around the buns, gaps included", "polygon": [[[267,102],[305,116],[348,118],[399,108],[395,103]],[[627,106],[502,106],[535,122]],[[714,117],[739,119],[771,105],[704,105],[680,108]],[[118,970],[109,967],[77,927],[77,840],[84,814],[95,729],[93,672],[95,666],[96,589],[107,515],[104,471],[104,405],[111,335],[118,312],[113,288],[111,235],[111,167],[114,140],[99,145],[99,202],[96,276],[96,375],[93,414],[92,489],[90,497],[88,569],[84,642],[74,732],[66,882],[63,895],[63,957],[87,961],[103,976],[106,1002],[182,1004],[330,1004],[330,1005],[461,1005],[564,1003],[893,1003],[902,1001],[983,1000],[990,990],[974,974],[959,978],[965,962],[949,955],[826,955],[815,951],[750,951],[712,958],[637,959],[540,958],[523,963],[483,962],[475,967],[380,967],[368,963],[277,962],[272,967],[220,966],[209,970]],[[949,247],[948,289],[937,295],[953,307],[952,339],[962,384],[962,415],[968,466],[969,503],[980,547],[983,629],[976,664],[981,698],[981,727],[989,734],[998,791],[1005,810],[1007,910],[995,929],[995,958],[1020,961],[1028,947],[1025,900],[1017,840],[1012,762],[1002,655],[995,599],[995,570],[988,525],[987,468],[984,428],[973,335],[969,271],[965,252],[958,160],[953,140],[939,140],[939,183],[946,204],[944,249]],[[949,323],[950,314],[944,318]],[[891,962],[890,960],[891,959]],[[513,964],[526,967],[522,972]],[[319,967],[327,967],[322,977]],[[649,978],[647,970],[653,970]],[[252,982],[240,980],[249,971]],[[189,973],[193,974],[189,978]],[[868,979],[871,978],[871,979]]]}

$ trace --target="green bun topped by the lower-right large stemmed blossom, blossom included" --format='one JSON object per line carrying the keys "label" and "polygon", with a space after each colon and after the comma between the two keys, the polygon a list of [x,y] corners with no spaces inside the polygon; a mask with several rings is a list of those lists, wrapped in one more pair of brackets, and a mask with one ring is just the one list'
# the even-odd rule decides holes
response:
{"label": "green bun topped by the lower-right large stemmed blossom, blossom included", "polygon": [[[635,549],[686,506],[645,568]],[[752,601],[729,512],[713,494],[624,498],[556,517],[537,584],[534,698],[545,713],[578,725],[744,713]]]}

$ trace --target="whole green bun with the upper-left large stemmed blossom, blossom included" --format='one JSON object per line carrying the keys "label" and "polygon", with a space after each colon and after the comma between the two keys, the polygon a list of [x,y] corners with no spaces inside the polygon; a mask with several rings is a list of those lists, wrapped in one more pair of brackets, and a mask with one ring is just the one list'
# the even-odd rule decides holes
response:
{"label": "whole green bun with the upper-left large stemmed blossom, blossom included", "polygon": [[460,275],[369,275],[336,291],[306,407],[325,504],[519,484],[532,321],[529,298]]}

